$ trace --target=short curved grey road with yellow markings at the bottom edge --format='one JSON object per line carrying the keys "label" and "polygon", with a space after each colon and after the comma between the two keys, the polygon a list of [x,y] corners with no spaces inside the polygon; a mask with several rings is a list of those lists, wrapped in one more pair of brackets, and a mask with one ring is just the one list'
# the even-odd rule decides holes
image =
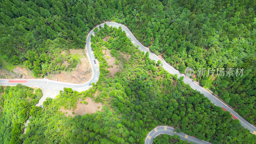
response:
{"label": "short curved grey road with yellow markings at the bottom edge", "polygon": [[154,128],[152,131],[150,131],[146,137],[145,140],[145,144],[152,144],[153,139],[155,137],[157,137],[159,134],[169,134],[169,135],[178,135],[180,137],[181,140],[188,140],[188,142],[193,142],[193,143],[197,143],[197,144],[210,144],[207,141],[204,140],[199,140],[197,138],[191,137],[185,133],[177,133],[174,132],[174,128],[169,127],[169,126],[157,126],[156,128]]}

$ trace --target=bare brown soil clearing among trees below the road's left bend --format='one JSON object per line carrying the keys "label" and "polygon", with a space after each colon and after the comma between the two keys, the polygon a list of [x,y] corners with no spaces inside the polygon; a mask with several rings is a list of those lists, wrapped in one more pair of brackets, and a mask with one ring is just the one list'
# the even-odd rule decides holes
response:
{"label": "bare brown soil clearing among trees below the road's left bend", "polygon": [[[80,103],[80,101],[82,103]],[[86,101],[88,104],[84,104],[83,101]],[[65,109],[63,107],[60,108],[60,111],[64,112],[64,114],[68,117],[68,116],[77,116],[77,115],[85,115],[86,113],[88,114],[92,114],[95,113],[96,111],[102,111],[102,104],[99,103],[95,103],[92,98],[86,98],[86,100],[81,100],[79,99],[79,101],[77,102],[76,105],[76,109]],[[100,108],[98,108],[100,107]],[[73,112],[73,113],[72,113]]]}

